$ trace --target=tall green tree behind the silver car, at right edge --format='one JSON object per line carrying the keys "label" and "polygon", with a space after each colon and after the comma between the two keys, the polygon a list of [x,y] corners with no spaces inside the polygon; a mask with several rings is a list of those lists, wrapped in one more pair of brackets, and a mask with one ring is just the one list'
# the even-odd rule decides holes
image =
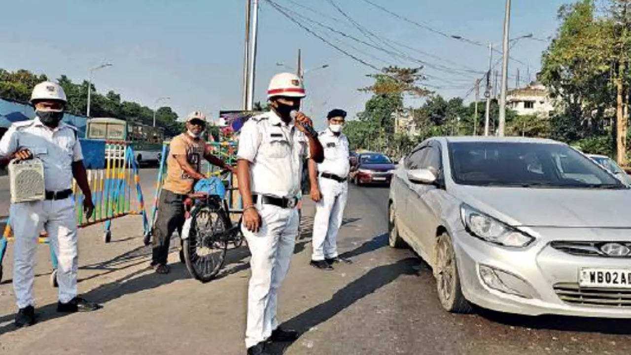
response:
{"label": "tall green tree behind the silver car, at right edge", "polygon": [[[543,53],[541,80],[560,102],[551,124],[558,137],[603,135],[615,111],[616,157],[625,165],[631,84],[631,7],[628,0],[581,0],[562,6],[561,25]],[[559,122],[554,122],[559,121]]]}

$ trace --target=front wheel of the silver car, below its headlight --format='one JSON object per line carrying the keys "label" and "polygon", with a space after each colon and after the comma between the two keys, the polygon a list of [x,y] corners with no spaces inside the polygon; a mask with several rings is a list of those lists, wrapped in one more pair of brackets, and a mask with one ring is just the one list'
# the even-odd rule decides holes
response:
{"label": "front wheel of the silver car, below its headlight", "polygon": [[439,236],[436,243],[434,268],[438,298],[442,307],[451,313],[470,313],[473,308],[464,298],[456,265],[456,253],[447,233]]}

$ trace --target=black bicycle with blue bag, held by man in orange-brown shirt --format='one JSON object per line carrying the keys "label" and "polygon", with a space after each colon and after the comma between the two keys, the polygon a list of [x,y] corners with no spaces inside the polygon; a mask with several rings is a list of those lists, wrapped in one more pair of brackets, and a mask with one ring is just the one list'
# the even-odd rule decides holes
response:
{"label": "black bicycle with blue bag, held by man in orange-brown shirt", "polygon": [[181,236],[181,256],[186,268],[194,279],[201,282],[208,282],[219,273],[225,262],[228,243],[239,248],[244,239],[241,219],[233,225],[228,215],[228,201],[225,200],[225,186],[221,180],[206,179],[206,184],[214,191],[196,191],[185,201],[186,222]]}

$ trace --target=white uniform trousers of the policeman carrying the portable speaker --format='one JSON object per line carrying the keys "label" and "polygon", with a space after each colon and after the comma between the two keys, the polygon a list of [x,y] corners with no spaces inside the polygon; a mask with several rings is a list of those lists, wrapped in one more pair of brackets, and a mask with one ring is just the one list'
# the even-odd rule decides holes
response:
{"label": "white uniform trousers of the policeman carrying the portable speaker", "polygon": [[74,199],[13,203],[9,210],[15,235],[13,251],[13,289],[18,308],[33,306],[35,249],[45,227],[57,256],[59,301],[68,303],[77,294],[77,227]]}

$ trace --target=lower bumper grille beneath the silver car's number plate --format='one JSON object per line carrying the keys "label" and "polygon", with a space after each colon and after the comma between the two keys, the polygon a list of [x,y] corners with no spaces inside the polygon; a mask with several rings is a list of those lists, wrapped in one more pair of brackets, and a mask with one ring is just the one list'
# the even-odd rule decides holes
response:
{"label": "lower bumper grille beneath the silver car's number plate", "polygon": [[631,289],[579,287],[579,284],[555,284],[554,291],[561,301],[586,306],[631,307]]}

